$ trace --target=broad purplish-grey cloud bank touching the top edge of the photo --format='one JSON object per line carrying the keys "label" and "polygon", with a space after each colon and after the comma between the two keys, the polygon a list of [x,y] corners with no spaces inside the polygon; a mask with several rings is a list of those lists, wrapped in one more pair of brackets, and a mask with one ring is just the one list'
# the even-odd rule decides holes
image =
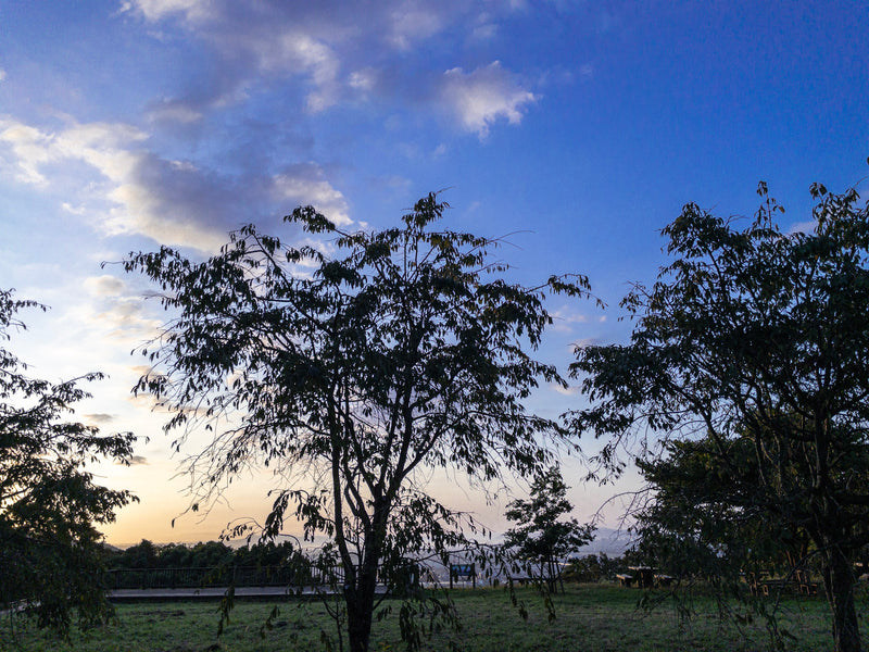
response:
{"label": "broad purplish-grey cloud bank touching the top edge of the photo", "polygon": [[[152,25],[179,27],[212,54],[212,65],[178,97],[152,106],[158,121],[191,124],[261,91],[282,102],[298,97],[311,114],[342,102],[388,98],[418,106],[419,98],[429,98],[432,108],[445,101],[464,129],[484,138],[499,120],[519,124],[538,99],[499,62],[470,73],[452,67],[444,75],[426,68],[431,58],[415,57],[439,38],[468,47],[493,39],[502,20],[524,11],[509,3],[130,0],[123,11]],[[454,58],[458,64],[463,53]]]}

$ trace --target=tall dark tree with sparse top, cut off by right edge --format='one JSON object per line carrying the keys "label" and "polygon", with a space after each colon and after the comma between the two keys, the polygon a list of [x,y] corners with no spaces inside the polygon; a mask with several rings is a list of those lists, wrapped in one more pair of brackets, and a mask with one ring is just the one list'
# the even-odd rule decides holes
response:
{"label": "tall dark tree with sparse top, cut off by right edge", "polygon": [[[607,438],[708,438],[731,498],[806,532],[821,561],[835,649],[860,649],[852,562],[869,543],[869,212],[855,190],[817,200],[810,233],[783,233],[767,193],[744,228],[695,204],[664,229],[672,262],[624,304],[630,343],[578,351],[591,406],[574,427]],[[746,469],[745,447],[751,455]],[[746,473],[748,472],[748,473]],[[715,485],[726,489],[726,485]]]}

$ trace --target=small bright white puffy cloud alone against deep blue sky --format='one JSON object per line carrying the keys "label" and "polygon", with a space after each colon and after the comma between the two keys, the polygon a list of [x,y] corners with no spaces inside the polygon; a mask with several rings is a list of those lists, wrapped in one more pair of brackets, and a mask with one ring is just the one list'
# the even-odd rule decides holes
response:
{"label": "small bright white puffy cloud alone against deep blue sky", "polygon": [[475,131],[480,139],[489,135],[499,118],[506,118],[512,125],[519,124],[525,109],[538,100],[498,61],[473,73],[458,67],[446,71],[441,95],[462,126]]}

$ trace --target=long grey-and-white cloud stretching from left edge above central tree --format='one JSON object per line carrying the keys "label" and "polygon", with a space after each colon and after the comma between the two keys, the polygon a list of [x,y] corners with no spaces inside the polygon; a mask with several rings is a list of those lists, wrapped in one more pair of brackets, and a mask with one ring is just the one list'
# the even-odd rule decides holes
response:
{"label": "long grey-and-white cloud stretching from left edge above central tree", "polygon": [[[290,203],[312,203],[339,224],[351,222],[343,195],[315,164],[272,176],[228,175],[162,158],[144,147],[147,140],[124,124],[72,123],[51,130],[0,117],[7,174],[63,188],[64,210],[87,215],[110,236],[142,235],[210,252],[226,242],[227,231],[250,221],[275,222]],[[70,162],[81,165],[59,165]]]}

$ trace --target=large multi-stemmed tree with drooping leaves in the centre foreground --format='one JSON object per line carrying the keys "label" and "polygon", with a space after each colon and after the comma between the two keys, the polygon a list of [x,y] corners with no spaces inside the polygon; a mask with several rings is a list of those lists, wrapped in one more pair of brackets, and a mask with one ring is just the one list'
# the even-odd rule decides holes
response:
{"label": "large multi-stemmed tree with drooping leaves in the centre foreground", "polygon": [[529,352],[551,323],[543,290],[584,294],[587,280],[505,281],[496,241],[432,228],[444,206],[429,196],[376,233],[300,208],[286,221],[313,244],[251,225],[204,262],[163,248],[126,263],[175,315],[143,351],[154,368],[139,389],[175,412],[181,439],[215,430],[190,466],[200,498],[251,464],[285,478],[264,534],[294,515],[327,536],[351,650],[368,648],[379,579],[396,587],[407,557],[464,541],[464,516],[426,492],[429,469],[532,476],[564,435],[524,406],[540,380],[564,383]]}

